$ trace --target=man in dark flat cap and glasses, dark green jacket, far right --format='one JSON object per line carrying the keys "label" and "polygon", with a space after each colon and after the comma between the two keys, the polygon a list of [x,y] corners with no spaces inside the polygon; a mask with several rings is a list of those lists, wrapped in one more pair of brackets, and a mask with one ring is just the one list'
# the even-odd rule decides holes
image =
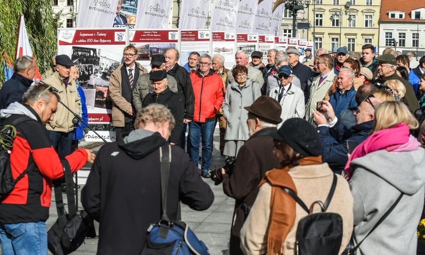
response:
{"label": "man in dark flat cap and glasses, dark green jacket, far right", "polygon": [[381,85],[384,85],[384,83],[389,80],[398,80],[402,82],[402,84],[406,87],[406,94],[402,98],[402,101],[407,104],[411,112],[414,112],[416,109],[418,109],[419,103],[415,96],[415,91],[413,90],[412,84],[398,76],[396,73],[396,57],[394,57],[392,54],[383,54],[375,59],[378,61],[379,78],[376,79],[372,84],[376,85],[380,83]]}

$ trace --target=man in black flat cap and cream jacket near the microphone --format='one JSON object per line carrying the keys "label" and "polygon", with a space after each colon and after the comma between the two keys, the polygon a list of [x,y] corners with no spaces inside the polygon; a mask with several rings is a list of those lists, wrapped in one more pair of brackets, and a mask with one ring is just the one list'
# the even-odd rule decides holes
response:
{"label": "man in black flat cap and cream jacket near the microphone", "polygon": [[[78,113],[80,112],[81,101],[78,96],[77,86],[69,76],[74,62],[67,55],[57,55],[55,60],[56,65],[54,66],[54,70],[56,72],[47,77],[44,83],[56,88],[60,96],[60,101],[74,113]],[[46,124],[53,148],[57,151],[61,159],[71,154],[72,130],[74,130],[74,124],[72,124],[73,118],[74,115],[62,104],[58,103],[53,121]]]}

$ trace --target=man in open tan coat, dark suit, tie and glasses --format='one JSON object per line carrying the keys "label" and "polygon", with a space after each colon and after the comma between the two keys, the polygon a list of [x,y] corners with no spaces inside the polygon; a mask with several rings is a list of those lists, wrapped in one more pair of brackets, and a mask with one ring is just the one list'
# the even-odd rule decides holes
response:
{"label": "man in open tan coat, dark suit, tie and glasses", "polygon": [[115,127],[117,140],[122,133],[132,130],[133,117],[136,110],[133,106],[133,90],[139,75],[148,70],[136,63],[137,48],[128,45],[124,48],[124,64],[112,72],[109,79],[109,93],[112,99],[112,125]]}

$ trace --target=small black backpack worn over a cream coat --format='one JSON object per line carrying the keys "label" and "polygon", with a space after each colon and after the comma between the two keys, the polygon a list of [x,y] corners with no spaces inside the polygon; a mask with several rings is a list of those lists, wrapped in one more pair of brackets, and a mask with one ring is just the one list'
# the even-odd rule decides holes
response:
{"label": "small black backpack worn over a cream coat", "polygon": [[[343,235],[342,217],[338,213],[326,212],[336,183],[337,176],[334,174],[331,190],[325,203],[315,201],[311,204],[310,210],[292,190],[282,188],[308,213],[298,222],[295,255],[338,255]],[[319,213],[313,213],[313,207],[316,204],[320,205]]]}

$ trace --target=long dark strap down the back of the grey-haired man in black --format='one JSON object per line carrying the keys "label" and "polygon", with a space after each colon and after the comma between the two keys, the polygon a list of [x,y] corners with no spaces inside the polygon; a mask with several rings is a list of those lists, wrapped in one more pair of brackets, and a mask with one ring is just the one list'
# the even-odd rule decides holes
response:
{"label": "long dark strap down the back of the grey-haired man in black", "polygon": [[167,215],[167,188],[168,188],[168,177],[170,175],[170,163],[171,163],[170,144],[166,144],[160,147],[160,158],[161,158],[161,202],[162,202],[161,220],[170,221]]}

